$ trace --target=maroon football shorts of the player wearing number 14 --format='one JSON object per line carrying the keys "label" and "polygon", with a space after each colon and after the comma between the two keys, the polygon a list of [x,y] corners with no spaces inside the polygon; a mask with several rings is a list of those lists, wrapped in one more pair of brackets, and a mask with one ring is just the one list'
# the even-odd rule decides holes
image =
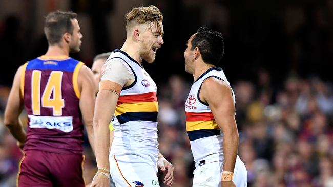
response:
{"label": "maroon football shorts of the player wearing number 14", "polygon": [[17,175],[19,187],[85,186],[83,163],[85,156],[27,150]]}

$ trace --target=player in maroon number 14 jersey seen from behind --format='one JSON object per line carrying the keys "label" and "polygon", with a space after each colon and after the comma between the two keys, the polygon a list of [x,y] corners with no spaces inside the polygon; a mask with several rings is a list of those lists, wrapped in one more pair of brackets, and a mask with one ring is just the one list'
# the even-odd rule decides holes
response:
{"label": "player in maroon number 14 jersey seen from behind", "polygon": [[[18,186],[85,186],[82,124],[92,143],[95,85],[90,69],[69,57],[80,51],[76,17],[73,12],[49,13],[44,27],[48,51],[15,74],[5,125],[24,150]],[[23,108],[27,134],[18,119]]]}

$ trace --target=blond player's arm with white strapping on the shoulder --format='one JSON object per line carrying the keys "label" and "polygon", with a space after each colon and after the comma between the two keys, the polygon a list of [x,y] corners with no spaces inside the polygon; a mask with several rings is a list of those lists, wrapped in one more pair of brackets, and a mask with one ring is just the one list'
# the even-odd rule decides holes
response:
{"label": "blond player's arm with white strapping on the shoulder", "polygon": [[[97,93],[93,119],[96,162],[98,169],[102,171],[108,171],[110,168],[109,148],[111,139],[109,123],[113,118],[120,90],[124,85],[134,81],[124,76],[128,73],[126,67],[116,61],[113,62],[109,61],[101,69],[100,90]],[[114,76],[115,74],[119,76]],[[106,179],[105,176],[97,173],[92,186],[108,185],[109,180]]]}

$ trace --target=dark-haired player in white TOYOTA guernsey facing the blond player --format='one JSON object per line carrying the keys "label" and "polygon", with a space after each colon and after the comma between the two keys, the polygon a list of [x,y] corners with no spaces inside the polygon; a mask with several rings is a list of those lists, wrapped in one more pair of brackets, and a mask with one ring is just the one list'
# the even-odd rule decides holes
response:
{"label": "dark-haired player in white TOYOTA guernsey facing the blond player", "polygon": [[235,94],[216,67],[223,53],[222,34],[206,27],[190,37],[184,52],[185,71],[194,77],[185,113],[195,187],[247,186],[246,168],[237,155]]}

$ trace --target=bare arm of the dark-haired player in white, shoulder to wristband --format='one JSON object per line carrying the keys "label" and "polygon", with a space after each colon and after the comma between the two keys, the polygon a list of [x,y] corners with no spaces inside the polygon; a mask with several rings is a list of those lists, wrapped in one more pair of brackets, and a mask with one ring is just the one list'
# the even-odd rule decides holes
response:
{"label": "bare arm of the dark-haired player in white, shoulder to wristband", "polygon": [[239,136],[231,88],[222,80],[208,78],[202,83],[200,99],[209,104],[215,121],[223,132],[223,171],[234,172]]}

